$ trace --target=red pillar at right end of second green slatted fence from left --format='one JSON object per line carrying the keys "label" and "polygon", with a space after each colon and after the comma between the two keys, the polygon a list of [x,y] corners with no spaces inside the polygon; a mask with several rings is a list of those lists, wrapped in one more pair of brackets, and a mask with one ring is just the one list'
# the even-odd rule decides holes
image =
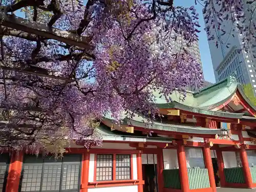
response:
{"label": "red pillar at right end of second green slatted fence from left", "polygon": [[209,176],[209,182],[210,187],[212,188],[212,192],[216,192],[216,183],[215,183],[215,177],[214,177],[214,167],[212,166],[211,161],[211,155],[210,155],[210,147],[204,147],[204,162],[205,167],[208,169],[208,176]]}

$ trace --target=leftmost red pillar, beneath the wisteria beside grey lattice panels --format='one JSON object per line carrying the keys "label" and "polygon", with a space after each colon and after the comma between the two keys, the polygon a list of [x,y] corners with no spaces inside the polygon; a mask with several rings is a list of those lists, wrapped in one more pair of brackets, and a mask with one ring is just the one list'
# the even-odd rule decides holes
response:
{"label": "leftmost red pillar, beneath the wisteria beside grey lattice panels", "polygon": [[6,191],[17,192],[22,173],[23,152],[13,152],[7,177]]}

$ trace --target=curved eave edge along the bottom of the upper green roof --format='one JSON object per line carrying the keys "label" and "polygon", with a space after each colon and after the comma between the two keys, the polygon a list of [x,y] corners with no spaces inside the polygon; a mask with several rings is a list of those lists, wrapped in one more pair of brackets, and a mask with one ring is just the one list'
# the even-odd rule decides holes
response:
{"label": "curved eave edge along the bottom of the upper green roof", "polygon": [[243,117],[243,113],[226,113],[221,111],[210,111],[200,108],[195,108],[193,106],[187,106],[181,103],[178,103],[176,101],[173,101],[171,103],[163,103],[163,104],[156,104],[156,106],[159,109],[179,109],[182,111],[187,111],[190,113],[197,113],[197,114],[203,114],[208,116],[214,116],[214,117],[224,117],[224,118],[230,118],[230,119],[241,119]]}

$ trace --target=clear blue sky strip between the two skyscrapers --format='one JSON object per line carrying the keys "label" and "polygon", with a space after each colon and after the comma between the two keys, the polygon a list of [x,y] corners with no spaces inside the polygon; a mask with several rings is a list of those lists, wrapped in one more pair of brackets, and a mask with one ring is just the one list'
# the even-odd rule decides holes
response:
{"label": "clear blue sky strip between the two skyscrapers", "polygon": [[[174,4],[175,6],[190,7],[191,5],[195,5],[195,0],[176,0],[174,1]],[[211,63],[207,35],[206,35],[206,32],[204,31],[205,25],[204,25],[203,12],[202,12],[203,6],[200,4],[197,4],[195,8],[197,9],[197,12],[199,14],[199,24],[201,25],[201,28],[200,28],[201,32],[198,34],[198,36],[199,36],[199,49],[200,49],[200,55],[201,55],[201,60],[203,65],[204,78],[207,81],[216,82],[215,76],[214,76],[214,69],[212,68],[212,63]]]}

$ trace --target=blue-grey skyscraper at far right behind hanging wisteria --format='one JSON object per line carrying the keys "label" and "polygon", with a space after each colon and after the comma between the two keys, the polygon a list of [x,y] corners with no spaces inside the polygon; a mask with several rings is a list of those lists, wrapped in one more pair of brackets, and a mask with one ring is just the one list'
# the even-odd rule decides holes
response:
{"label": "blue-grey skyscraper at far right behind hanging wisteria", "polygon": [[[253,7],[254,5],[249,6]],[[246,2],[243,11],[247,18],[251,17]],[[256,16],[252,15],[252,20],[253,18],[256,19]],[[238,24],[240,26],[249,25],[249,23],[242,23],[242,20],[234,23],[231,20],[223,20],[222,29],[211,29],[210,31],[210,35],[214,34],[216,37],[215,40],[208,41],[215,78],[219,82],[230,75],[234,76],[241,84],[250,83],[256,95],[256,59],[253,57],[253,54],[256,55],[256,48],[251,47],[254,42],[250,41],[248,51],[242,49],[244,33],[241,34],[238,31],[236,27]],[[218,48],[216,46],[217,39]]]}

